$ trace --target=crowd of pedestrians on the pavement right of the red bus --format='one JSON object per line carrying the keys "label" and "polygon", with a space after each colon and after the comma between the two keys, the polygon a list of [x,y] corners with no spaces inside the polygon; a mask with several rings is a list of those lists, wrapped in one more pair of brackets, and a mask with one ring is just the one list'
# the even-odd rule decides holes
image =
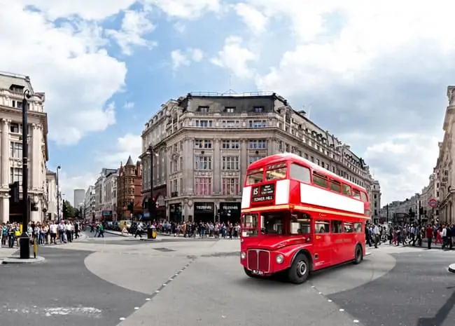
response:
{"label": "crowd of pedestrians on the pavement right of the red bus", "polygon": [[428,249],[432,244],[442,245],[443,249],[452,249],[455,243],[454,224],[404,224],[365,226],[365,240],[367,245],[377,247],[381,243],[389,245],[419,245],[426,242]]}

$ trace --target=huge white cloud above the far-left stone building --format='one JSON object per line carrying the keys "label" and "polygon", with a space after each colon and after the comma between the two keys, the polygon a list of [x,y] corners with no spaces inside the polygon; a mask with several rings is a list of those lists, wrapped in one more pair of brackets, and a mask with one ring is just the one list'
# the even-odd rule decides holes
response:
{"label": "huge white cloud above the far-left stone building", "polygon": [[0,6],[2,69],[27,74],[35,90],[46,93],[50,139],[76,144],[114,123],[113,109],[103,107],[125,85],[127,69],[100,48],[101,29],[88,23],[56,27],[16,2]]}

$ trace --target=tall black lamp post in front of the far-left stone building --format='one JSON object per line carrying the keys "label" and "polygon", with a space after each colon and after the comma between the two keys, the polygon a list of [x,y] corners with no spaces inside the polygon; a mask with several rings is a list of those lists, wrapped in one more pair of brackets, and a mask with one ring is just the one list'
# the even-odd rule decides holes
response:
{"label": "tall black lamp post in front of the far-left stone building", "polygon": [[29,225],[29,144],[28,144],[28,122],[27,114],[31,97],[30,91],[24,91],[22,101],[22,234],[20,235],[20,259],[30,258],[30,238],[28,231]]}

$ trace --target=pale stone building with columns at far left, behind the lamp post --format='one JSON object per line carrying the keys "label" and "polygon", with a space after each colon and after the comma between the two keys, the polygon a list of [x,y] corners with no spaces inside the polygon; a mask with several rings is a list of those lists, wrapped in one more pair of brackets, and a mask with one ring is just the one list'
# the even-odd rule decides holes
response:
{"label": "pale stone building with columns at far left, behind the lamp post", "polygon": [[[9,184],[22,186],[22,100],[29,90],[27,112],[29,135],[29,196],[37,196],[38,211],[30,212],[31,221],[45,219],[48,211],[48,115],[44,111],[45,94],[31,86],[28,76],[0,73],[0,222],[22,222],[22,205],[10,203]],[[22,201],[22,189],[20,189]]]}

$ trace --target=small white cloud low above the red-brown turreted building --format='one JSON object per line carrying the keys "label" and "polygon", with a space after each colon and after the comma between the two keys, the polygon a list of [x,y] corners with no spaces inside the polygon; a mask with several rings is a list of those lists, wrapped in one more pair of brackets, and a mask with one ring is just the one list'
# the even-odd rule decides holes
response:
{"label": "small white cloud low above the red-brown turreted building", "polygon": [[139,160],[142,149],[142,138],[140,135],[127,133],[118,137],[112,151],[97,155],[104,167],[120,168],[120,162],[126,163],[128,156],[131,156],[134,163]]}

